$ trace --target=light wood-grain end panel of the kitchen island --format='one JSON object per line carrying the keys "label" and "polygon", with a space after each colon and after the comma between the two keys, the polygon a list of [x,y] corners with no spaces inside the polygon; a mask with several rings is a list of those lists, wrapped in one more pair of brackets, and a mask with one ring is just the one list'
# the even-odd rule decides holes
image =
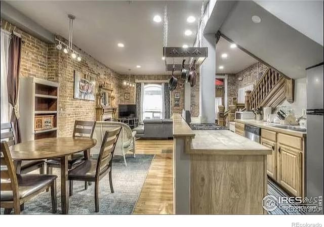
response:
{"label": "light wood-grain end panel of the kitchen island", "polygon": [[263,214],[265,155],[190,155],[191,214]]}

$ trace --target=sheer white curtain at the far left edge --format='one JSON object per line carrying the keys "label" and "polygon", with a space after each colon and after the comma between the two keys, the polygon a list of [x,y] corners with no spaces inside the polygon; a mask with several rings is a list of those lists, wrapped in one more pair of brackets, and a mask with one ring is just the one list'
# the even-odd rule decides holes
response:
{"label": "sheer white curtain at the far left edge", "polygon": [[8,52],[10,37],[1,31],[1,123],[9,122],[9,103],[7,90]]}

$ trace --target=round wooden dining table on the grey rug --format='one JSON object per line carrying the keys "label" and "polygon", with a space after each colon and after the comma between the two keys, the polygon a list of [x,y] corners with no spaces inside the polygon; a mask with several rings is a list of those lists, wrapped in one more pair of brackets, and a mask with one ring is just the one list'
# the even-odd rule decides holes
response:
{"label": "round wooden dining table on the grey rug", "polygon": [[59,137],[45,138],[35,141],[16,144],[11,148],[11,155],[17,169],[21,166],[22,160],[36,159],[61,159],[61,201],[62,213],[68,214],[69,210],[69,184],[68,184],[68,156],[84,151],[85,158],[88,158],[88,150],[96,145],[97,141],[90,138]]}

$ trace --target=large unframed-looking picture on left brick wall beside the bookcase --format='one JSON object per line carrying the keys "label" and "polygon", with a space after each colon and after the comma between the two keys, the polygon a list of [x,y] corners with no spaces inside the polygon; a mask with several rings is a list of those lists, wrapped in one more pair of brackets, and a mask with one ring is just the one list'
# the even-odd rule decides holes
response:
{"label": "large unframed-looking picture on left brick wall beside the bookcase", "polygon": [[74,99],[95,101],[96,79],[74,70]]}

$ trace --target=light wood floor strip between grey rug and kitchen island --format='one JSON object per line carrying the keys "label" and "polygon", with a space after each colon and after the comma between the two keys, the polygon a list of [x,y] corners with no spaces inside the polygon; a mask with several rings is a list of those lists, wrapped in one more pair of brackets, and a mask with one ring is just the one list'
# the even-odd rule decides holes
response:
{"label": "light wood floor strip between grey rug and kitchen island", "polygon": [[136,149],[137,154],[155,154],[155,157],[133,214],[172,214],[172,153],[161,152],[173,150],[173,140],[137,140]]}

